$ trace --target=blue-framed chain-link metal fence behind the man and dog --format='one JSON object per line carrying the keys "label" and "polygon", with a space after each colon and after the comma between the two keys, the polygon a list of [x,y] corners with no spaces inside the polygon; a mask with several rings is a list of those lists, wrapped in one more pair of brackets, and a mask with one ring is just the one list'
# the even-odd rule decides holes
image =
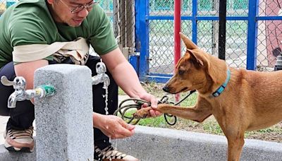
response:
{"label": "blue-framed chain-link metal fence behind the man and dog", "polygon": [[[0,0],[0,13],[14,0]],[[182,0],[181,30],[219,55],[219,1]],[[142,81],[165,82],[173,73],[174,0],[102,0],[120,48]],[[281,53],[282,0],[227,0],[226,63],[272,71]],[[183,45],[184,50],[184,45]],[[184,51],[183,51],[184,52]]]}

